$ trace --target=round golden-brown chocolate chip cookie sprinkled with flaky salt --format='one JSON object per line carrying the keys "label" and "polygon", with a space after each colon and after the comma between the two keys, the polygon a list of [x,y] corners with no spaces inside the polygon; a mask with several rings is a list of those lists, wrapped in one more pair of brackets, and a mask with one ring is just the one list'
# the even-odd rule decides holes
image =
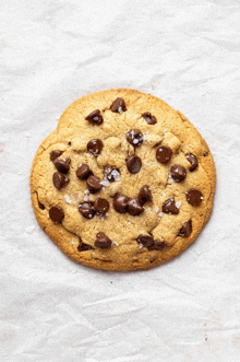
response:
{"label": "round golden-brown chocolate chip cookie sprinkled with flaky salt", "polygon": [[183,252],[213,209],[215,167],[180,113],[133,90],[87,95],[40,144],[31,192],[43,230],[71,259],[155,267]]}

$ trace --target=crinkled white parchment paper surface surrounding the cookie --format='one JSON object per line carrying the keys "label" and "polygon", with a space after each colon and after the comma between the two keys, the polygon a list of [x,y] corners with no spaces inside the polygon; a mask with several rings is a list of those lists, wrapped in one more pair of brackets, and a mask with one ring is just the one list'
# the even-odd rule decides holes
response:
{"label": "crinkled white parchment paper surface surrounding the cookie", "polygon": [[[0,1],[0,361],[240,361],[240,1]],[[35,151],[85,94],[180,109],[217,167],[211,221],[141,272],[69,260],[39,229]]]}

